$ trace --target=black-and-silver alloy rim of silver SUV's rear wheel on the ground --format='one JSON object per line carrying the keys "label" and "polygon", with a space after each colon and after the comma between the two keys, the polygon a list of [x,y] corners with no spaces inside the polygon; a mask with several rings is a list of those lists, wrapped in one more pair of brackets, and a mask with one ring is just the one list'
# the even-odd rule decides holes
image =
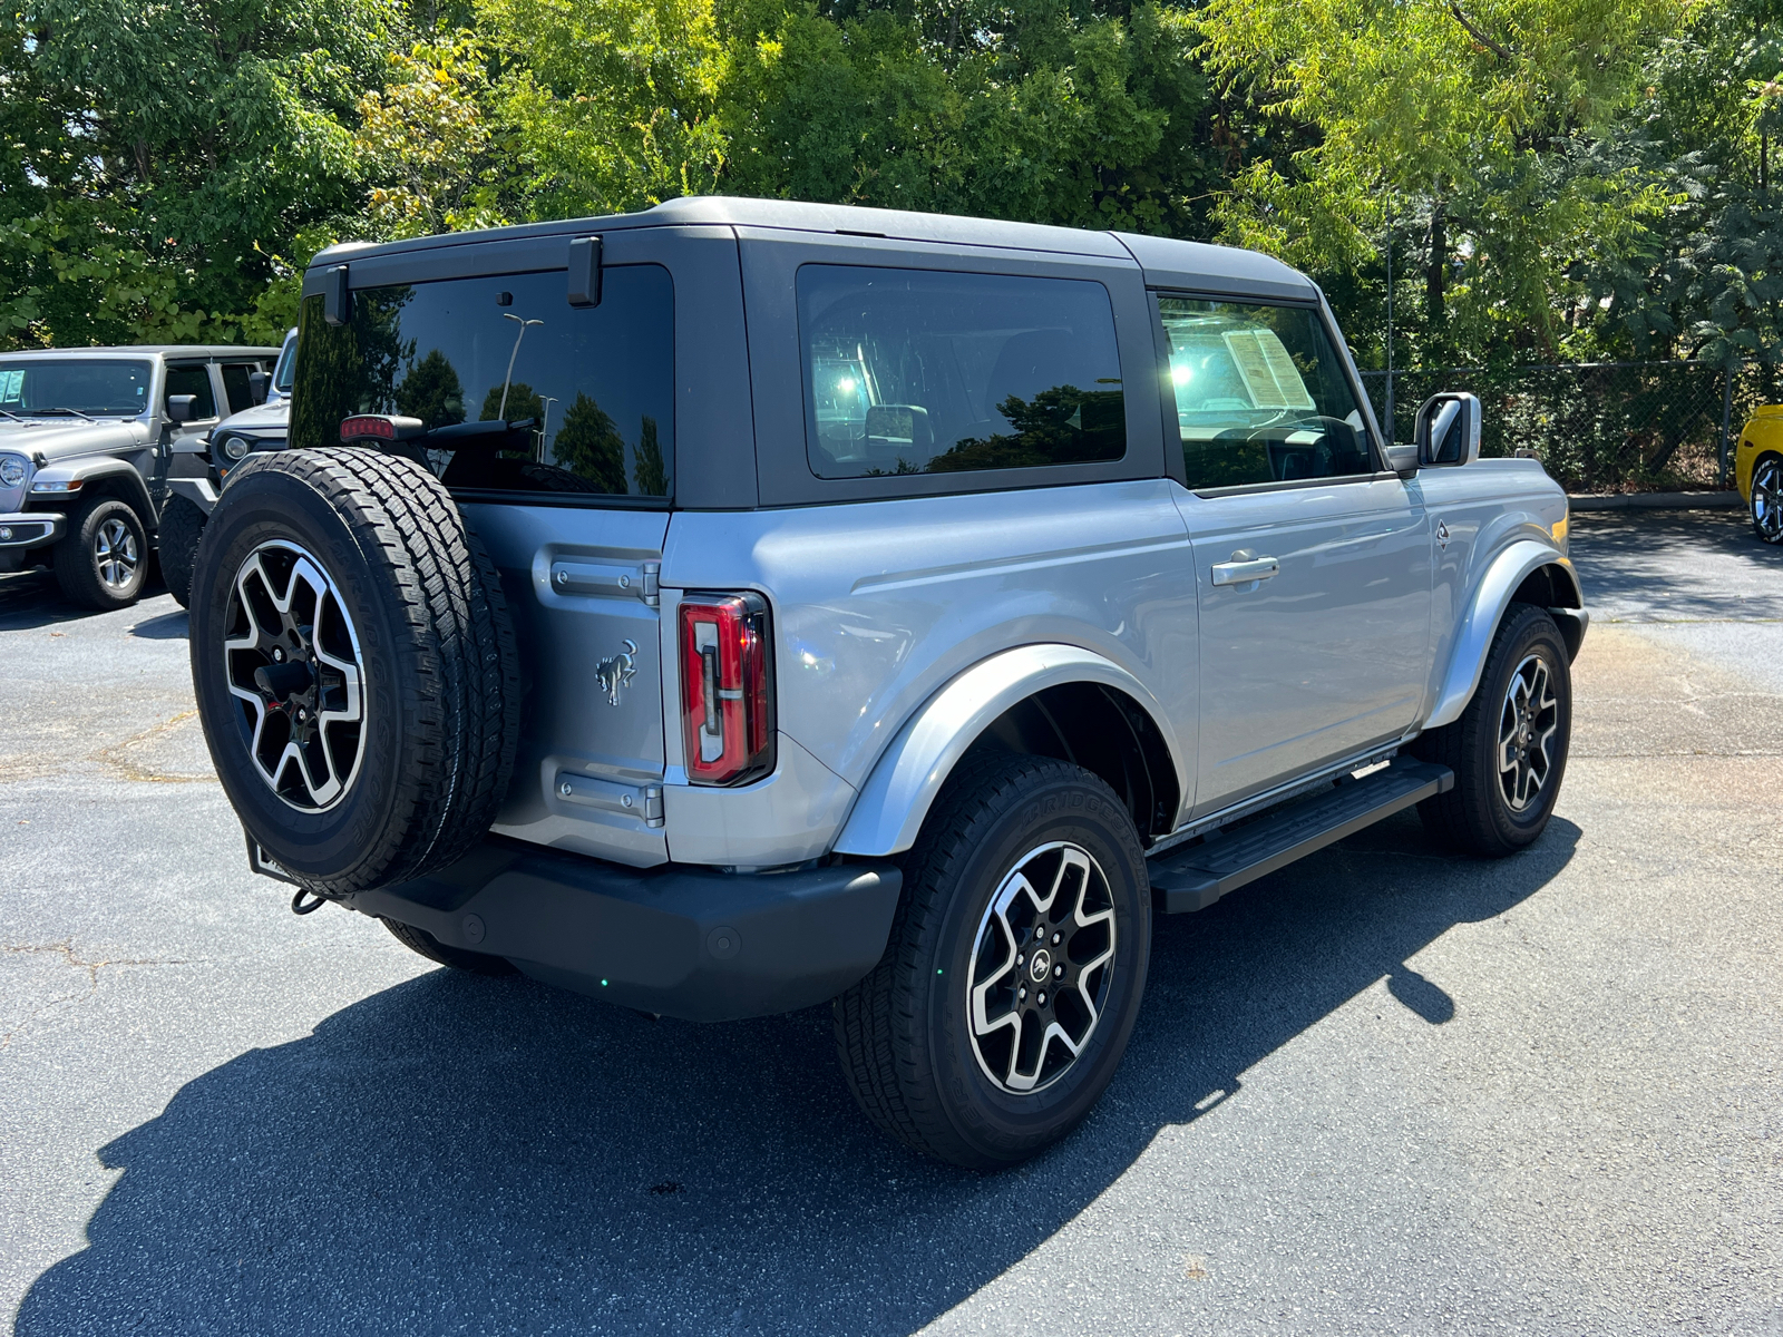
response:
{"label": "black-and-silver alloy rim of silver SUV's rear wheel on the ground", "polygon": [[991,897],[972,948],[972,1052],[1004,1091],[1059,1080],[1089,1043],[1109,997],[1114,900],[1082,845],[1023,854]]}

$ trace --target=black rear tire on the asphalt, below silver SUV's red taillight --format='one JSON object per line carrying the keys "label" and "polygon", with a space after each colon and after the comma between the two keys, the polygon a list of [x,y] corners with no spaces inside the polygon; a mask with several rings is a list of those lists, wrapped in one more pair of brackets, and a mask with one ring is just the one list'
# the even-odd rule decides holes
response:
{"label": "black rear tire on the asphalt, below silver SUV's red taillight", "polygon": [[[1041,970],[1041,975],[1066,964],[1077,970],[1075,957],[1066,954],[1088,938],[1066,939],[1056,948],[1059,957],[1045,963],[1032,943],[1031,957],[1015,957],[1015,948],[1006,945],[1016,938],[1027,943],[1025,927],[998,927],[991,915],[998,888],[1009,884],[1006,879],[1016,868],[1041,866],[1052,857],[1025,856],[1054,841],[1088,852],[1098,865],[1113,907],[1113,943],[1091,941],[1088,950],[1113,957],[1104,968],[1105,979],[1093,980],[1091,972],[1082,972],[1082,988],[1093,982],[1100,1009],[1086,1009],[1080,997],[1073,1002],[1077,1023],[1084,1016],[1093,1021],[1077,1034],[1080,1054],[1047,1077],[1045,1064],[1066,1059],[1066,1048],[1048,1041],[1038,1059],[1023,1057],[1023,1041],[1016,1038],[1023,1036],[1031,1014],[1072,1023],[1066,1000],[1073,991],[1057,989],[1056,1013],[1018,1013],[1013,1036],[988,1030],[984,1048],[972,1036],[968,993],[974,970],[984,973],[982,988],[997,982],[998,961],[1007,968],[1020,959],[1029,973]],[[974,1169],[1015,1164],[1056,1143],[1089,1112],[1127,1050],[1152,950],[1152,900],[1139,836],[1125,804],[1091,772],[1048,758],[984,754],[949,779],[902,863],[904,895],[886,954],[833,1005],[843,1075],[868,1118],[915,1152]],[[1045,870],[1038,874],[1041,881],[1047,875]],[[1077,886],[1095,882],[1084,874],[1072,877],[1079,879]],[[1054,913],[1063,913],[1059,907],[1066,904],[1059,897],[1070,900],[1072,893],[1063,888],[1050,893]],[[1104,891],[1095,893],[1097,904],[1102,897]],[[1016,897],[1011,916],[1020,906]],[[1047,916],[1034,918],[1041,931],[1059,927]],[[981,932],[988,936],[982,950],[975,950]],[[1043,947],[1050,950],[1054,943],[1048,938]],[[1002,979],[1009,980],[1009,989],[997,1002],[998,1013],[1045,1002],[1038,986],[1025,1004],[1015,1000],[1016,982],[1032,984],[1020,970]],[[1064,984],[1072,982],[1066,975]],[[990,1011],[986,1004],[986,1014]],[[993,1048],[997,1043],[1004,1048]],[[1015,1057],[1004,1062],[1004,1054]],[[1011,1091],[993,1075],[993,1062],[1002,1077],[1029,1062],[1039,1084]]]}

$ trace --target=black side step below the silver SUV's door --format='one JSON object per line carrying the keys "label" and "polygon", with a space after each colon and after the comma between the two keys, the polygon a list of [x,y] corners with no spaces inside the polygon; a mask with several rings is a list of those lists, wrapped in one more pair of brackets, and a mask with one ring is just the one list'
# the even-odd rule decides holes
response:
{"label": "black side step below the silver SUV's door", "polygon": [[1453,788],[1455,772],[1448,767],[1396,758],[1373,775],[1294,799],[1200,845],[1157,857],[1148,870],[1152,900],[1166,915],[1207,909],[1245,882]]}

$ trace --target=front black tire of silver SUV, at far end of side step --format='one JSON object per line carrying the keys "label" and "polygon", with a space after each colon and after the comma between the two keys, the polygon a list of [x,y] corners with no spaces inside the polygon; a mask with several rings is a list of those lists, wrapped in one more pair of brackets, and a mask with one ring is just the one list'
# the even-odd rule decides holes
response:
{"label": "front black tire of silver SUV, at far end of side step", "polygon": [[[1553,699],[1551,720],[1542,701],[1524,706],[1510,701],[1512,679],[1532,660],[1546,670],[1548,695]],[[1533,706],[1533,720],[1526,722],[1528,734],[1519,738],[1524,724],[1514,717],[1521,717],[1526,706]],[[1514,756],[1512,772],[1500,768],[1500,738],[1505,731]],[[1544,734],[1546,749],[1541,745]],[[1483,857],[1503,857],[1533,843],[1548,829],[1560,797],[1571,736],[1573,672],[1560,627],[1544,608],[1512,604],[1492,636],[1480,686],[1467,710],[1453,724],[1432,729],[1412,743],[1416,756],[1455,772],[1453,790],[1417,804],[1425,829],[1446,845]],[[1519,745],[1528,759],[1516,758]],[[1537,768],[1539,784],[1530,788]],[[1523,806],[1517,806],[1519,795]]]}

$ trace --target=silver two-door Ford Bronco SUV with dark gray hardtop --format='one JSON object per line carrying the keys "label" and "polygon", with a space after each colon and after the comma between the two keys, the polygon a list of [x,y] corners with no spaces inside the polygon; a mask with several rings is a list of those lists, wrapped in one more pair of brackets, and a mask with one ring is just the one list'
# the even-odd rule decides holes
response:
{"label": "silver two-door Ford Bronco SUV with dark gray hardtop", "polygon": [[998,1166],[1109,1084],[1154,913],[1412,804],[1533,841],[1567,506],[1391,446],[1237,250],[688,198],[321,253],[291,447],[191,654],[250,859],[453,966],[833,1002],[861,1107]]}

